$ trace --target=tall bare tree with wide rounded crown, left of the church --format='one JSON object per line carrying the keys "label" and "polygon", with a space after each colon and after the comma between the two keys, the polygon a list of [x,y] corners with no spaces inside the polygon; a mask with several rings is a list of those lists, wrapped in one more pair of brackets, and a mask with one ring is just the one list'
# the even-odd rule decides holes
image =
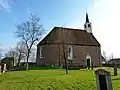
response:
{"label": "tall bare tree with wide rounded crown, left of the church", "polygon": [[30,56],[30,51],[32,46],[38,41],[42,34],[42,24],[39,23],[40,19],[35,14],[31,14],[27,21],[22,22],[17,25],[16,35],[18,38],[25,42],[27,48],[27,62],[26,62],[26,70],[28,70],[28,60]]}

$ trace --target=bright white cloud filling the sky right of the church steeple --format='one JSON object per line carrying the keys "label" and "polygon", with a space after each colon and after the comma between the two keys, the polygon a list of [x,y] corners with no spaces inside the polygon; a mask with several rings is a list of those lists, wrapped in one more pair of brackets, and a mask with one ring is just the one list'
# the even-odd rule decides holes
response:
{"label": "bright white cloud filling the sky right of the church steeple", "polygon": [[89,15],[102,50],[120,57],[120,0],[93,0]]}

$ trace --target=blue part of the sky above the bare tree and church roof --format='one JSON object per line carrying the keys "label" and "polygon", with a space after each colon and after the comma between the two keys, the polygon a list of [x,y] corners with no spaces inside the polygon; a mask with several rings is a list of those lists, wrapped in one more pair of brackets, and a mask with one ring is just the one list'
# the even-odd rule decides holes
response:
{"label": "blue part of the sky above the bare tree and church roof", "polygon": [[[18,41],[14,35],[15,25],[36,13],[46,31],[57,26],[77,26],[84,23],[85,11],[91,1],[85,0],[0,0],[0,44],[12,47]],[[3,7],[4,6],[4,7]],[[47,32],[46,32],[47,33]]]}

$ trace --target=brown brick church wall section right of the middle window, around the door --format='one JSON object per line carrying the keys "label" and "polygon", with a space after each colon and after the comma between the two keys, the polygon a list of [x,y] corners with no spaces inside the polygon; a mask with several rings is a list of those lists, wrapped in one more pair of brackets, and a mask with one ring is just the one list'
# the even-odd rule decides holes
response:
{"label": "brown brick church wall section right of the middle window, around the door", "polygon": [[73,46],[73,63],[86,65],[86,55],[88,54],[90,55],[94,66],[100,65],[100,48],[93,46]]}

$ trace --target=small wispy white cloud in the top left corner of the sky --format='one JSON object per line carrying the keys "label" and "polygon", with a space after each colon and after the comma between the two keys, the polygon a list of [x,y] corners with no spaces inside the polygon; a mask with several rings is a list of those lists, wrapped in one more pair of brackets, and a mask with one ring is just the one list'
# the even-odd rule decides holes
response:
{"label": "small wispy white cloud in the top left corner of the sky", "polygon": [[7,11],[11,12],[11,6],[8,2],[8,0],[0,0],[0,11]]}

